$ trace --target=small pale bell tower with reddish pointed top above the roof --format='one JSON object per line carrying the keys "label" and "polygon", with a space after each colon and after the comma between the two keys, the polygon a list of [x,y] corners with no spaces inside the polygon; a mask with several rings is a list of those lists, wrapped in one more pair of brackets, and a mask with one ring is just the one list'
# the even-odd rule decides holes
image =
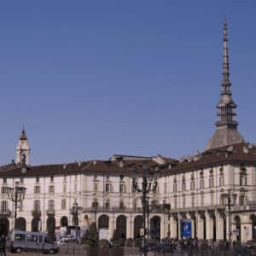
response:
{"label": "small pale bell tower with reddish pointed top above the roof", "polygon": [[16,148],[16,164],[20,166],[28,166],[29,153],[30,153],[30,147],[29,147],[29,144],[27,143],[26,132],[23,127],[21,131],[19,143]]}

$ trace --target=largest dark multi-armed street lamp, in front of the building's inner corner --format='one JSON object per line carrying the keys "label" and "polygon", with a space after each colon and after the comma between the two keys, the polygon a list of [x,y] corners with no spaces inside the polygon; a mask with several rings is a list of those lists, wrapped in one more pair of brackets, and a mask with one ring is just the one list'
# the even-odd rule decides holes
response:
{"label": "largest dark multi-armed street lamp, in front of the building's inner corner", "polygon": [[[146,217],[147,217],[147,212],[149,213],[148,210],[148,193],[150,191],[155,192],[157,188],[157,171],[154,170],[154,172],[150,172],[148,169],[148,166],[146,164],[143,165],[143,181],[142,183],[138,183],[137,178],[138,178],[138,173],[135,173],[135,176],[132,179],[132,185],[134,191],[137,191],[139,193],[142,193],[142,204],[143,204],[143,256],[147,255],[147,247],[146,247],[146,234],[147,234],[147,229],[146,229]],[[148,211],[147,211],[148,210]]]}

